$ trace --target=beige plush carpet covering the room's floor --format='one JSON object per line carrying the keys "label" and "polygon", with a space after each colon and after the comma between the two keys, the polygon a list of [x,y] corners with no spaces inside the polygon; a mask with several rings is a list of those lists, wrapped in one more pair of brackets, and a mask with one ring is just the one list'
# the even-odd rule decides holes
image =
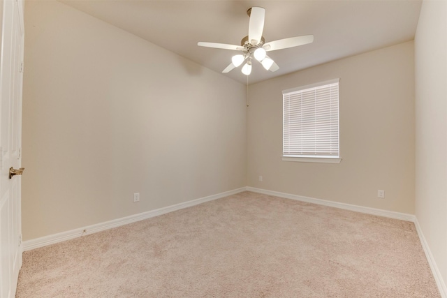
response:
{"label": "beige plush carpet covering the room's floor", "polygon": [[16,297],[440,297],[413,223],[244,192],[24,253]]}

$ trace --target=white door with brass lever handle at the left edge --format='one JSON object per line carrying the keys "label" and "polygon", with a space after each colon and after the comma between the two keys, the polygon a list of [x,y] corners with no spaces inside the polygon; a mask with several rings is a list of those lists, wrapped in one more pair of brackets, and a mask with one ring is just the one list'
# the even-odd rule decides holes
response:
{"label": "white door with brass lever handle at the left edge", "polygon": [[0,56],[0,297],[15,297],[22,266],[21,176],[23,2],[1,0]]}

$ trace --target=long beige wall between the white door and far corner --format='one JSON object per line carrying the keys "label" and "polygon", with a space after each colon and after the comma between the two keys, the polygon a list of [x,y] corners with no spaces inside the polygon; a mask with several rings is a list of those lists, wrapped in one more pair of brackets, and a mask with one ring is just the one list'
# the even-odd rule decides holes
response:
{"label": "long beige wall between the white door and far corner", "polygon": [[244,85],[57,1],[25,25],[24,240],[247,185]]}

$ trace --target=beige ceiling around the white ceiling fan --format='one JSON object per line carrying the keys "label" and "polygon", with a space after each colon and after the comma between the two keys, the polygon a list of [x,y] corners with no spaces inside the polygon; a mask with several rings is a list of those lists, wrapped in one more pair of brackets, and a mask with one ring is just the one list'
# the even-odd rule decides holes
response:
{"label": "beige ceiling around the white ceiling fan", "polygon": [[[249,84],[335,59],[413,40],[420,0],[135,1],[59,0],[151,43],[221,73],[233,50],[198,47],[198,41],[240,45],[252,6],[265,8],[265,42],[313,34],[314,43],[269,52],[272,73],[254,63]],[[236,68],[227,77],[247,84]]]}

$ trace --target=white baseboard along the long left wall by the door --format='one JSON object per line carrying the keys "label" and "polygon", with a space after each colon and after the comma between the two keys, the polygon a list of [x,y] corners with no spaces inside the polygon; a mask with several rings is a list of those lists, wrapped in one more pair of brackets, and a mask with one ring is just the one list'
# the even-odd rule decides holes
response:
{"label": "white baseboard along the long left wall by the door", "polygon": [[50,244],[56,244],[61,241],[78,238],[85,234],[93,234],[96,232],[101,232],[103,230],[117,228],[120,225],[127,225],[129,223],[135,223],[136,221],[142,221],[147,218],[152,218],[154,216],[159,216],[159,215],[166,214],[166,213],[176,211],[179,209],[184,209],[187,207],[195,206],[197,204],[202,204],[204,202],[217,200],[217,199],[220,199],[223,197],[227,197],[228,195],[234,195],[236,193],[240,193],[240,192],[246,191],[246,190],[247,190],[247,188],[245,188],[245,187],[237,188],[237,189],[234,189],[233,191],[226,191],[223,193],[218,193],[217,195],[209,195],[204,198],[199,198],[199,199],[191,200],[188,202],[182,202],[182,203],[171,205],[168,207],[163,207],[160,209],[146,211],[146,212],[142,212],[140,214],[134,214],[134,215],[126,216],[123,218],[117,218],[112,221],[106,221],[104,223],[97,223],[95,225],[89,225],[84,228],[78,228],[75,230],[69,230],[66,232],[60,232],[60,233],[48,235],[45,237],[40,237],[40,238],[36,238],[36,239],[23,241],[22,248],[23,248],[23,251],[30,251],[31,249],[34,249],[34,248],[39,248],[39,247],[47,246]]}

